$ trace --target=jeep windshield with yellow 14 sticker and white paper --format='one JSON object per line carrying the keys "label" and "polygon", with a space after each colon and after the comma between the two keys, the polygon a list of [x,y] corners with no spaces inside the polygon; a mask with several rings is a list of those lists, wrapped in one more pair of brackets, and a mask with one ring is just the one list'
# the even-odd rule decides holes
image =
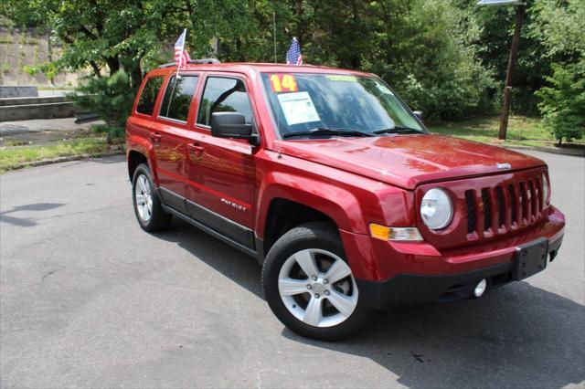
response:
{"label": "jeep windshield with yellow 14 sticker and white paper", "polygon": [[[359,131],[377,135],[427,131],[379,79],[340,74],[262,73],[278,131],[315,135],[319,130]],[[378,134],[377,134],[378,132]],[[288,136],[287,136],[288,134]]]}

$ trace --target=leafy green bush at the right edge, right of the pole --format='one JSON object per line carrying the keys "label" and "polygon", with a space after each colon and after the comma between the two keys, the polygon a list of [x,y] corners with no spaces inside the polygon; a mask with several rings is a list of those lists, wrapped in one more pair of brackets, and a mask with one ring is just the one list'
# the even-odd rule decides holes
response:
{"label": "leafy green bush at the right edge, right of the pole", "polygon": [[585,131],[585,64],[553,64],[549,87],[538,90],[543,124],[558,139],[581,139]]}

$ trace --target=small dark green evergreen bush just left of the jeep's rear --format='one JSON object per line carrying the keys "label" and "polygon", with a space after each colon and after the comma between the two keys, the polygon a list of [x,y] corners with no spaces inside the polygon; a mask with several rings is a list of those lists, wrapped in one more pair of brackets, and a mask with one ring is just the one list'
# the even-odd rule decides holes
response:
{"label": "small dark green evergreen bush just left of the jeep's rear", "polygon": [[[119,70],[111,77],[90,79],[69,95],[82,110],[98,114],[108,128],[123,129],[132,110],[134,90],[128,75]],[[105,131],[111,141],[111,131]]]}

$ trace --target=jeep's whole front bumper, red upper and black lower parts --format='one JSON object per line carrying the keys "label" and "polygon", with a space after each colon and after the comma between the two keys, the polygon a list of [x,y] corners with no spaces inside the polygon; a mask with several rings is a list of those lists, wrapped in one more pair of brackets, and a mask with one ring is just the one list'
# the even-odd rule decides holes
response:
{"label": "jeep's whole front bumper, red upper and black lower parts", "polygon": [[548,240],[548,259],[557,256],[565,217],[551,206],[537,226],[482,244],[438,251],[425,242],[386,242],[341,231],[360,299],[385,310],[393,303],[469,298],[482,279],[488,289],[514,280],[516,247]]}

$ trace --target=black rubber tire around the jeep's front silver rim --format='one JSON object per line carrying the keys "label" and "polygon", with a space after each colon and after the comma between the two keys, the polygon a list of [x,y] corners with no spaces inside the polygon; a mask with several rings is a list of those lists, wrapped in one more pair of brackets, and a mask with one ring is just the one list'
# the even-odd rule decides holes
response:
{"label": "black rubber tire around the jeep's front silver rim", "polygon": [[[292,331],[323,341],[346,339],[361,329],[370,310],[358,295],[356,310],[346,321],[332,327],[314,327],[298,320],[286,308],[278,289],[278,277],[284,262],[293,254],[307,248],[319,248],[346,260],[346,254],[335,228],[322,223],[310,223],[293,228],[271,247],[262,268],[262,286],[266,300],[276,317]],[[358,291],[359,292],[359,291]]]}

